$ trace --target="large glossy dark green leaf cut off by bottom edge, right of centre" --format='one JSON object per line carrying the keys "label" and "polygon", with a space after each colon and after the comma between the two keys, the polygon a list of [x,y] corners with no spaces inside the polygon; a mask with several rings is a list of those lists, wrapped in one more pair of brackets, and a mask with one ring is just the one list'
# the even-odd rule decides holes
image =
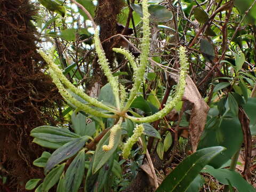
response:
{"label": "large glossy dark green leaf cut off by bottom edge, right of centre", "polygon": [[185,158],[169,175],[167,175],[156,191],[186,191],[190,183],[193,182],[203,167],[223,150],[225,150],[225,148],[218,146],[196,151],[196,153]]}

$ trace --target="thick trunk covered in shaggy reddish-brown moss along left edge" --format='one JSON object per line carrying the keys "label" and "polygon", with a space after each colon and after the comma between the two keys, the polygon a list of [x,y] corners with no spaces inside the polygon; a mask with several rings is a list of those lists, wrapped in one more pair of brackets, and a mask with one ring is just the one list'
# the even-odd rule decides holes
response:
{"label": "thick trunk covered in shaggy reddish-brown moss along left edge", "polygon": [[22,191],[28,179],[43,177],[33,167],[43,149],[31,143],[30,130],[56,123],[53,117],[59,115],[62,99],[41,72],[31,23],[34,7],[28,0],[1,0],[0,10],[0,165],[7,170],[0,175],[6,174],[11,190]]}

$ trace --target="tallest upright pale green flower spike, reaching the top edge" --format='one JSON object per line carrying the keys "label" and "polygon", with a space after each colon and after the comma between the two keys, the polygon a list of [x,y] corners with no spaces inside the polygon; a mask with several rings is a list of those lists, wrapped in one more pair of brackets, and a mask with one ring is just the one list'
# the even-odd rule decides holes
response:
{"label": "tallest upright pale green flower spike, reaching the top edge", "polygon": [[138,67],[138,69],[135,71],[135,80],[134,80],[134,85],[131,89],[130,92],[130,97],[127,100],[126,106],[124,107],[124,110],[127,110],[130,106],[132,101],[134,100],[134,98],[137,95],[138,90],[140,89],[141,83],[143,82],[143,78],[144,78],[144,74],[145,74],[145,70],[147,67],[147,63],[148,63],[148,54],[149,54],[149,34],[150,34],[150,30],[149,30],[149,13],[148,13],[148,2],[147,0],[143,0],[142,1],[142,12],[143,12],[143,38],[141,41],[141,54],[140,54],[140,66]]}

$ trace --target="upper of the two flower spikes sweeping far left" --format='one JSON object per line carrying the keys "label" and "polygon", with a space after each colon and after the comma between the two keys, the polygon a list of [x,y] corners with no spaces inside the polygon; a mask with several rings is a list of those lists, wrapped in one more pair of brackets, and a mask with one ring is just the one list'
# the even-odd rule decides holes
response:
{"label": "upper of the two flower spikes sweeping far left", "polygon": [[[53,52],[52,50],[53,49],[50,50],[51,53]],[[53,58],[50,57],[50,55],[47,55],[42,50],[38,50],[38,53],[41,54],[42,58],[49,65],[49,68],[51,68],[54,71],[55,75],[60,79],[60,81],[64,85],[66,85],[68,87],[68,89],[70,89],[72,92],[74,92],[77,95],[79,95],[79,97],[81,97],[82,99],[84,99],[85,101],[91,103],[92,105],[94,105],[96,107],[100,107],[102,109],[109,110],[111,112],[115,111],[114,109],[104,105],[102,102],[98,101],[97,99],[89,97],[89,95],[85,94],[82,90],[77,89],[77,87],[75,87],[72,83],[70,83],[68,81],[68,79],[63,75],[63,73],[60,70],[60,68],[57,65],[55,65],[55,63],[53,62]]]}

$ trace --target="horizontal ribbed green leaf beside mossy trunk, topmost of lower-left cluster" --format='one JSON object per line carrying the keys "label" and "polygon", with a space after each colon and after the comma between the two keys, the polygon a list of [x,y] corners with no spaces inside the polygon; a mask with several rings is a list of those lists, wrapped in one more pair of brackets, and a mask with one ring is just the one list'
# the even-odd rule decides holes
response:
{"label": "horizontal ribbed green leaf beside mossy trunk, topmost of lower-left cluster", "polygon": [[30,136],[51,143],[58,143],[60,145],[79,138],[78,134],[69,131],[67,128],[47,125],[39,126],[31,130]]}

